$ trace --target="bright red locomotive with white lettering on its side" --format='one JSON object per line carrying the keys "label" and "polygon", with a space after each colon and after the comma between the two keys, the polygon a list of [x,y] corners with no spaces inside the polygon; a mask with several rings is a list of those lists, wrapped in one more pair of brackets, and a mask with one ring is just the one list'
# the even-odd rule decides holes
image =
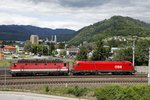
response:
{"label": "bright red locomotive with white lettering on its side", "polygon": [[72,69],[78,74],[134,74],[134,66],[129,61],[76,61]]}

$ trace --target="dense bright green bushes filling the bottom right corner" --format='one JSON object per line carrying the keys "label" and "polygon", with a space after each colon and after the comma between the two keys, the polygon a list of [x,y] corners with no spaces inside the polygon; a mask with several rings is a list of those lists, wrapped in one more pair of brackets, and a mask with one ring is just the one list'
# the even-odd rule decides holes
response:
{"label": "dense bright green bushes filling the bottom right corner", "polygon": [[104,86],[95,95],[97,100],[149,100],[150,86]]}

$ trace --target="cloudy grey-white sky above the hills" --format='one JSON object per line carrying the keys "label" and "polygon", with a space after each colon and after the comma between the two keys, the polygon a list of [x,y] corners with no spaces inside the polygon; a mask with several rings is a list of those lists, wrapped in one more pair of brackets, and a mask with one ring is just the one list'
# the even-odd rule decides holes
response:
{"label": "cloudy grey-white sky above the hills", "polygon": [[0,0],[0,25],[79,30],[114,15],[150,23],[150,0]]}

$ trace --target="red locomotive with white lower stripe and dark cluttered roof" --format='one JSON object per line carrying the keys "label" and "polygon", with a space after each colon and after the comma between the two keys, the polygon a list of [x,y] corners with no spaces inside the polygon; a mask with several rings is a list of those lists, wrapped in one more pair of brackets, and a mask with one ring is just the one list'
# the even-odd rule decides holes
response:
{"label": "red locomotive with white lower stripe and dark cluttered roof", "polygon": [[11,66],[12,76],[17,75],[68,75],[68,63],[60,60],[23,59]]}

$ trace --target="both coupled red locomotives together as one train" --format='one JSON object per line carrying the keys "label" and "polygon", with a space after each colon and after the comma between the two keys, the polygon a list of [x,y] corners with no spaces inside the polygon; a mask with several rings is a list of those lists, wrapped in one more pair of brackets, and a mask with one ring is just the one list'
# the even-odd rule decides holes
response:
{"label": "both coupled red locomotives together as one train", "polygon": [[76,61],[69,71],[69,64],[60,60],[18,60],[11,66],[12,76],[17,75],[85,75],[85,74],[134,74],[129,61]]}

